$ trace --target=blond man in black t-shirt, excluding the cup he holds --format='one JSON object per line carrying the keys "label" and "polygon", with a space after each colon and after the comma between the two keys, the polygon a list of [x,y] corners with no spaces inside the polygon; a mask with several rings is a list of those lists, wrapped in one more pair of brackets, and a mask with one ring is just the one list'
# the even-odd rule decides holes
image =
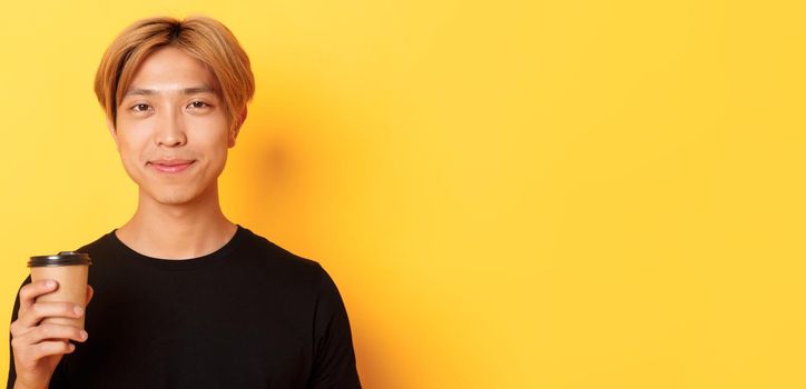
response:
{"label": "blond man in black t-shirt, excluding the cup he holds", "polygon": [[140,20],[111,43],[96,94],[134,217],[78,251],[92,258],[81,317],[37,302],[12,313],[9,388],[360,388],[346,310],[322,267],[227,220],[217,178],[254,92],[230,31],[203,17]]}

